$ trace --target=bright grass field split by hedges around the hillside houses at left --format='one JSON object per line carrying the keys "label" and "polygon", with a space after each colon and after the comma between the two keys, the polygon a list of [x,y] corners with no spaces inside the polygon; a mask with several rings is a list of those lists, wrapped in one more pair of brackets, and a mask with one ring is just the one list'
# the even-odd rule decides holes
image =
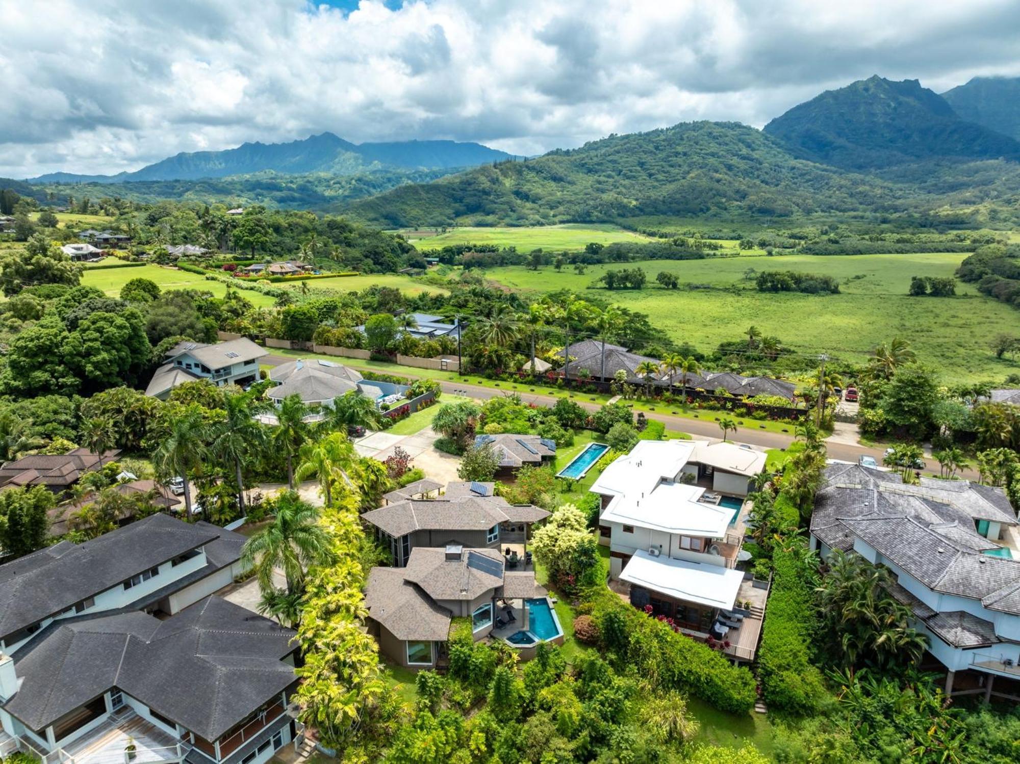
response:
{"label": "bright grass field split by hedges around the hillside houses at left", "polygon": [[[115,262],[115,261],[114,261]],[[207,280],[197,273],[178,271],[175,268],[164,268],[158,265],[145,265],[141,268],[90,268],[82,276],[82,283],[95,286],[111,296],[120,293],[120,287],[133,278],[148,278],[159,284],[161,289],[206,289],[218,297],[226,293],[226,284],[222,281]],[[357,291],[368,286],[393,286],[409,294],[422,291],[444,291],[440,287],[419,284],[408,276],[381,274],[372,276],[344,276],[342,278],[325,278],[305,281],[312,291],[326,293],[328,291]],[[274,284],[278,286],[279,284]],[[286,284],[286,289],[299,289],[299,284]],[[251,289],[240,290],[256,308],[271,306],[275,301],[267,294]]]}

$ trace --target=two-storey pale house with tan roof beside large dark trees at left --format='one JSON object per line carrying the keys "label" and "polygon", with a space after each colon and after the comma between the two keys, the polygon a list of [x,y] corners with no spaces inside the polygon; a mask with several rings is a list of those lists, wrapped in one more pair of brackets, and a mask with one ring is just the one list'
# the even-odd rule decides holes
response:
{"label": "two-storey pale house with tan roof beside large dark trees at left", "polygon": [[258,362],[266,354],[268,350],[247,337],[213,344],[178,342],[152,375],[145,394],[165,400],[177,385],[198,379],[220,386],[245,385],[258,379]]}

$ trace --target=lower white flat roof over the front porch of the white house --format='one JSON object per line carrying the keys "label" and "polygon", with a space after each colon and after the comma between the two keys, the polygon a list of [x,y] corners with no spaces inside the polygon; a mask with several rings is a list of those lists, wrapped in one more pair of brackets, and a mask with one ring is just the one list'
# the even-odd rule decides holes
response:
{"label": "lower white flat roof over the front porch of the white house", "polygon": [[620,581],[651,589],[673,599],[729,610],[736,602],[744,574],[722,565],[634,552]]}

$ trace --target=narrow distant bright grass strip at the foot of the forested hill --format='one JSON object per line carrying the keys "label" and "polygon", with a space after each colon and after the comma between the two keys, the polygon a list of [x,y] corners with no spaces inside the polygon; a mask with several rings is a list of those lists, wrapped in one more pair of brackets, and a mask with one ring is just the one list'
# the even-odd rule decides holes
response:
{"label": "narrow distant bright grass strip at the foot of the forested hill", "polygon": [[[410,234],[417,231],[408,231]],[[453,228],[446,233],[412,238],[421,251],[439,250],[447,244],[496,244],[516,247],[519,252],[542,248],[549,252],[579,252],[590,241],[608,244],[613,241],[653,241],[633,231],[615,225],[588,223],[584,225],[548,225],[530,228]]]}

